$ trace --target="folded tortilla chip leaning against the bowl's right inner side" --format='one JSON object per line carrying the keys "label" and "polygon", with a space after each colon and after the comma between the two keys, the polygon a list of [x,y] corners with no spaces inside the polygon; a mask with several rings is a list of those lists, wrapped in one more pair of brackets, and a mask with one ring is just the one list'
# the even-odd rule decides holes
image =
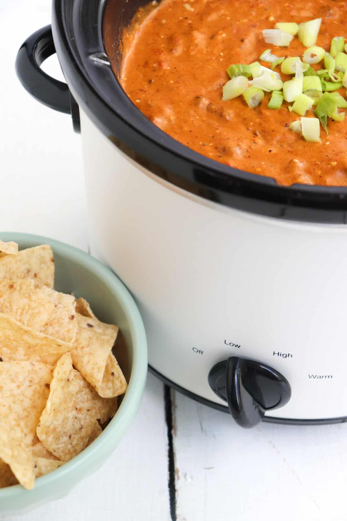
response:
{"label": "folded tortilla chip leaning against the bowl's right inner side", "polygon": [[76,322],[78,330],[71,349],[73,365],[103,398],[114,398],[123,394],[127,384],[111,352],[117,338],[118,327],[78,313],[76,313]]}

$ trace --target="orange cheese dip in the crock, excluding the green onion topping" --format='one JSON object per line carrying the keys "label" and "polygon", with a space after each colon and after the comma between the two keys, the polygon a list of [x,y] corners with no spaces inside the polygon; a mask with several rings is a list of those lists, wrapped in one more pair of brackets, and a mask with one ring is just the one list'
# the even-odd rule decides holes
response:
{"label": "orange cheese dip in the crock, excluding the green onion topping", "polygon": [[[271,93],[253,109],[242,95],[222,101],[230,64],[259,61],[269,67],[259,60],[267,48],[277,56],[302,57],[306,47],[298,36],[288,47],[276,47],[265,43],[263,29],[315,18],[322,18],[316,45],[330,52],[334,36],[347,36],[347,2],[152,2],[124,30],[122,87],[155,125],[211,159],[285,185],[347,186],[347,117],[329,119],[329,134],[321,126],[322,142],[310,143],[289,130],[300,120],[288,110],[292,104],[267,108]],[[323,61],[313,67],[323,68]],[[280,75],[282,81],[293,78]],[[345,97],[346,89],[338,92]],[[313,109],[305,117],[314,117]]]}

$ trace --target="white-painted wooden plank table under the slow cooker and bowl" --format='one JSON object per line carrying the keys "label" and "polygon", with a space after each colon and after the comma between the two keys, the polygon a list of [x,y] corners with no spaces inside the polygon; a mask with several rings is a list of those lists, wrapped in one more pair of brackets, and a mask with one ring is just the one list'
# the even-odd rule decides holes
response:
{"label": "white-painted wooden plank table under the slow cooker and bowl", "polygon": [[[49,21],[49,0],[0,2],[0,229],[86,250],[80,137],[14,71],[22,41]],[[59,73],[48,61],[46,70]],[[148,375],[134,424],[98,473],[65,499],[0,521],[346,521],[346,424],[246,431],[176,392],[168,410],[164,393]]]}

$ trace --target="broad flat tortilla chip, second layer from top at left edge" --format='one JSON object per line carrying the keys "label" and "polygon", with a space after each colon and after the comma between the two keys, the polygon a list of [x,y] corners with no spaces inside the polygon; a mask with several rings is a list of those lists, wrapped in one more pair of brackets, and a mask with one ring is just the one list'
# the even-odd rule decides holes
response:
{"label": "broad flat tortilla chip, second layer from top at left edge", "polygon": [[34,289],[33,280],[0,280],[0,313],[65,342],[76,336],[73,296],[47,287]]}

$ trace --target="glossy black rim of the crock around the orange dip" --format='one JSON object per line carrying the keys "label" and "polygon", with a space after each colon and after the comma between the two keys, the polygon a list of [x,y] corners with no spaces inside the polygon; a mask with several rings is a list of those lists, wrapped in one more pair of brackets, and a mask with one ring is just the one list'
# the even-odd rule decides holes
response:
{"label": "glossy black rim of the crock around the orange dip", "polygon": [[[173,174],[170,176],[171,183],[183,185],[185,190],[206,199],[268,217],[346,224],[347,188],[304,184],[285,187],[272,178],[230,168],[206,158],[149,122],[128,100],[111,69],[92,64],[89,59],[91,54],[105,51],[102,15],[106,1],[54,0],[52,11],[54,43],[70,91],[101,132],[113,142],[114,138],[120,139],[139,155],[163,169],[169,169]],[[97,23],[93,23],[93,17]],[[110,81],[110,74],[122,91],[122,104],[133,115],[136,114],[132,121],[126,120],[114,105],[105,100],[101,81],[94,81],[98,77],[100,80],[107,77]],[[114,86],[117,88],[117,85]],[[137,123],[143,123],[144,119],[152,127],[150,134],[138,128]]]}

